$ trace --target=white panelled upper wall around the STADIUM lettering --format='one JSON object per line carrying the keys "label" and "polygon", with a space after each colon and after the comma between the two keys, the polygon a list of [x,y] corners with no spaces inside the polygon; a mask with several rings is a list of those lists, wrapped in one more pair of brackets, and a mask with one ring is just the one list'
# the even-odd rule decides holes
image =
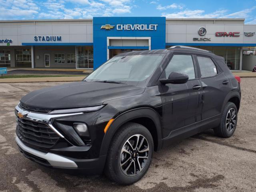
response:
{"label": "white panelled upper wall around the STADIUM lettering", "polygon": [[[11,39],[10,46],[22,43],[92,43],[92,20],[0,22],[0,39]],[[61,36],[62,41],[34,41],[34,36]],[[6,46],[6,43],[0,43]]]}

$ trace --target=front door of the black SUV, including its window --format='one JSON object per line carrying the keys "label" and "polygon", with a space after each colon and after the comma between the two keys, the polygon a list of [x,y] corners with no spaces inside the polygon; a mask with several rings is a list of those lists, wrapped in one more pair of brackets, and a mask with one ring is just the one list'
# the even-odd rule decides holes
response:
{"label": "front door of the black SUV, including its window", "polygon": [[166,140],[188,131],[201,114],[200,81],[191,54],[174,54],[160,78],[168,78],[171,72],[188,74],[185,84],[161,84],[163,108],[163,136]]}

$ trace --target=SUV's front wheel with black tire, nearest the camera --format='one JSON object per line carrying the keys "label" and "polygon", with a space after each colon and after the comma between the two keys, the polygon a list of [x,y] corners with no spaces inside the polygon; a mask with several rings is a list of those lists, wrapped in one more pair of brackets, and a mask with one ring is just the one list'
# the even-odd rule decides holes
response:
{"label": "SUV's front wheel with black tire, nearest the camera", "polygon": [[[136,135],[136,136],[135,136]],[[143,139],[144,137],[144,139]],[[130,148],[130,146],[127,143],[127,140],[132,144],[133,140],[134,140],[134,144],[135,144],[135,140],[136,138],[138,138],[138,142],[141,142],[142,140],[142,145],[140,146],[140,148],[138,149],[138,151],[143,151],[142,147],[145,147],[144,150],[146,148],[146,145],[148,144],[148,152],[142,152],[138,155],[138,153],[135,152],[135,156],[134,153],[126,153],[125,151],[122,152],[123,149],[129,150],[132,149]],[[145,140],[146,138],[146,140]],[[132,144],[132,146],[136,146]],[[122,184],[122,185],[129,185],[129,184],[133,184],[134,182],[137,182],[138,180],[140,180],[147,172],[151,160],[152,160],[152,156],[153,156],[153,150],[154,150],[154,142],[153,142],[153,138],[150,134],[150,132],[148,131],[148,129],[144,126],[142,126],[141,124],[137,124],[137,123],[132,123],[132,122],[128,122],[126,124],[124,124],[120,130],[118,130],[118,132],[116,132],[116,134],[114,135],[112,142],[110,144],[110,148],[108,150],[108,155],[107,155],[107,159],[106,159],[106,165],[105,165],[105,175],[112,181],[118,183],[118,184]],[[137,151],[137,152],[138,152]],[[136,156],[137,154],[137,156]],[[140,158],[138,156],[147,156],[148,158],[145,161],[144,158]],[[124,156],[127,156],[126,158],[124,158]],[[132,160],[130,160],[130,158],[134,158]],[[122,162],[122,158],[124,158],[123,162]],[[126,160],[128,160],[127,164],[124,164],[121,168],[121,164],[126,162]],[[134,163],[132,162],[134,161]],[[138,162],[143,161],[142,165],[143,166],[139,166]],[[130,164],[131,162],[131,166],[130,168],[125,172],[124,169],[126,169],[126,165]],[[128,174],[130,170],[134,170],[135,167],[135,174],[132,176],[126,175]],[[136,166],[137,168],[142,168],[142,170],[139,172],[139,170],[136,170]],[[128,166],[127,166],[128,167]],[[131,171],[132,174],[132,171]]]}

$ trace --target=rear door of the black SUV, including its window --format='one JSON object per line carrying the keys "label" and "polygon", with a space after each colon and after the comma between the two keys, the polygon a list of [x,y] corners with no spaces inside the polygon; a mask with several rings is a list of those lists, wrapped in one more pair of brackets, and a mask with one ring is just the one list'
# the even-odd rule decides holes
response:
{"label": "rear door of the black SUV, including its window", "polygon": [[200,55],[196,58],[202,83],[202,120],[219,118],[224,99],[231,91],[230,82],[212,58]]}

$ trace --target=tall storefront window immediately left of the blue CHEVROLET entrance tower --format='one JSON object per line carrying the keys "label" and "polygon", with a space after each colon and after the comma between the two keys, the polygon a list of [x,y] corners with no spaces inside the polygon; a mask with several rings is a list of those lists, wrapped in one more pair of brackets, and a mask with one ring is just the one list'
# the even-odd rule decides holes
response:
{"label": "tall storefront window immediately left of the blue CHEVROLET entrance tower", "polygon": [[93,68],[93,47],[76,47],[77,68]]}

